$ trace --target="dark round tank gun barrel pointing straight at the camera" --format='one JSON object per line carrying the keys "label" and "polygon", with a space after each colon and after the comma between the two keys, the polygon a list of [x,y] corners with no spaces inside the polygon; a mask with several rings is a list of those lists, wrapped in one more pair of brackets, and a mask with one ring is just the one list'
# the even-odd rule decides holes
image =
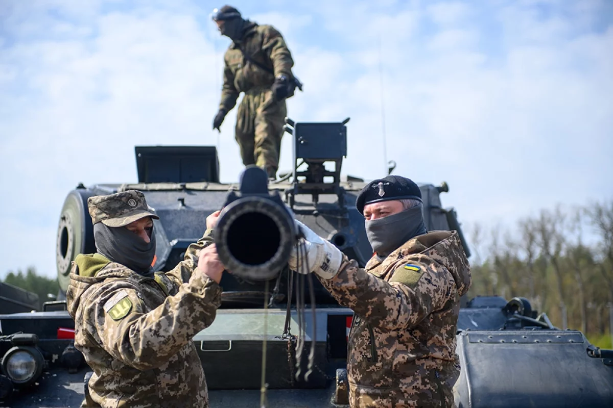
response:
{"label": "dark round tank gun barrel pointing straight at the camera", "polygon": [[248,166],[240,194],[230,191],[215,228],[219,259],[240,278],[275,278],[287,264],[296,240],[292,212],[278,192],[268,193],[265,171]]}

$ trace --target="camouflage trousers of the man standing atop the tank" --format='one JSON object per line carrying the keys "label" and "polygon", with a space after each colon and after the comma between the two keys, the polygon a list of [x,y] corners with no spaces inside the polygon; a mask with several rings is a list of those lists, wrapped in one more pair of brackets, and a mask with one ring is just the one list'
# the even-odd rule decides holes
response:
{"label": "camouflage trousers of the man standing atop the tank", "polygon": [[275,177],[286,116],[285,100],[276,102],[270,89],[255,87],[245,92],[238,106],[235,128],[243,165],[255,164],[265,169],[269,177]]}

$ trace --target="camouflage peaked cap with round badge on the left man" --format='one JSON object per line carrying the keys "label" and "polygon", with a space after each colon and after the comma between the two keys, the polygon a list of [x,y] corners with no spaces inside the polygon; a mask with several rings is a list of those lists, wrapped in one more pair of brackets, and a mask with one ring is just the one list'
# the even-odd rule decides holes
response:
{"label": "camouflage peaked cap with round badge on the left man", "polygon": [[149,210],[145,195],[137,190],[89,197],[87,207],[92,223],[102,222],[110,227],[123,227],[144,217],[159,220],[159,217]]}

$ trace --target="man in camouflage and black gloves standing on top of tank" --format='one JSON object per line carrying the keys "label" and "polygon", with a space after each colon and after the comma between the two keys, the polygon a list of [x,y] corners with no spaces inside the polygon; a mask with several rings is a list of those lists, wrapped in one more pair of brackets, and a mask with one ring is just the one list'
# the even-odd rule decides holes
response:
{"label": "man in camouflage and black gloves standing on top of tank", "polygon": [[279,166],[285,100],[294,94],[294,61],[281,33],[270,25],[244,20],[231,6],[213,10],[213,21],[232,40],[224,56],[223,88],[213,130],[234,108],[240,92],[235,138],[243,165],[257,165],[275,179]]}

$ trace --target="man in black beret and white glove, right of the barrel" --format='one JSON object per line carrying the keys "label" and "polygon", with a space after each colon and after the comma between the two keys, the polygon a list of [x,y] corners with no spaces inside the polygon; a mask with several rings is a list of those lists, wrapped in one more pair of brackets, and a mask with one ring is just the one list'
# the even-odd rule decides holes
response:
{"label": "man in black beret and white glove, right of the barrel", "polygon": [[[459,377],[455,334],[471,273],[457,231],[427,232],[419,187],[405,177],[370,182],[356,199],[375,251],[364,269],[304,224],[314,272],[354,311],[347,374],[352,408],[452,407]],[[308,269],[307,269],[308,265]]]}

